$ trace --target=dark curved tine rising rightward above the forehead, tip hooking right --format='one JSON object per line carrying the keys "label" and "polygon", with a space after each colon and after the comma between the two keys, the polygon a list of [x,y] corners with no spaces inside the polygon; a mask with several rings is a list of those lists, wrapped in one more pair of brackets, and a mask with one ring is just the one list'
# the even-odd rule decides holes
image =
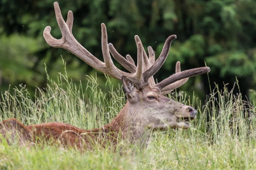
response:
{"label": "dark curved tine rising rightward above the forehead, tip hooking right", "polygon": [[163,63],[166,60],[166,57],[168,56],[171,42],[172,42],[172,40],[174,40],[176,38],[177,38],[176,35],[171,35],[166,39],[159,58],[155,61],[155,63],[149,69],[147,69],[144,72],[143,77],[144,77],[145,81],[148,80],[154,74],[156,74],[156,72],[161,68],[161,66],[163,65]]}

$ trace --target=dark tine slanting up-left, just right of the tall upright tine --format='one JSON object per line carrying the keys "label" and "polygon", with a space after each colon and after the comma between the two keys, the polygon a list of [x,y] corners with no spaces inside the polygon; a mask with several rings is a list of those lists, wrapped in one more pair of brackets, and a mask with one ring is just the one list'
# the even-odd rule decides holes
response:
{"label": "dark tine slanting up-left, just right of the tall upright tine", "polygon": [[[109,51],[111,52],[112,56],[114,57],[114,59],[116,59],[116,61],[118,63],[120,63],[123,67],[125,67],[125,69],[127,69],[129,72],[131,72],[131,73],[136,72],[137,68],[136,68],[135,64],[132,64],[131,62],[127,61],[122,55],[120,55],[111,43],[109,43],[108,47],[109,47]],[[130,57],[130,59],[131,59],[131,57]],[[134,61],[133,61],[133,63],[134,63]]]}

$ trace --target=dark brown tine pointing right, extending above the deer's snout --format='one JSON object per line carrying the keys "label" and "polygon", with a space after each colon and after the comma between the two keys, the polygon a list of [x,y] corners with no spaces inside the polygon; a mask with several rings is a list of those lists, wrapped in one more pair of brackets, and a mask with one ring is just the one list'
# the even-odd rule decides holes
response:
{"label": "dark brown tine pointing right, extending above the deer's snout", "polygon": [[168,78],[165,78],[160,83],[157,83],[155,87],[159,88],[160,90],[166,87],[169,84],[172,84],[178,80],[183,78],[189,78],[197,75],[201,75],[204,73],[209,73],[211,69],[209,67],[200,67],[200,68],[193,68],[190,70],[185,70],[179,73],[175,73]]}

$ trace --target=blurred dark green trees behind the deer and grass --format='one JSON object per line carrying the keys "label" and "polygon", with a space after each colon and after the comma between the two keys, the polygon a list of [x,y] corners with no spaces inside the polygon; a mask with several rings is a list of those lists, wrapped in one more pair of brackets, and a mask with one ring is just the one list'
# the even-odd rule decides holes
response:
{"label": "blurred dark green trees behind the deer and grass", "polygon": [[[95,69],[63,49],[50,47],[43,30],[61,38],[52,0],[0,1],[0,91],[23,86],[34,94],[44,88],[46,70],[57,80],[66,71],[73,83],[86,86],[86,75]],[[233,88],[236,78],[243,97],[255,98],[256,86],[256,1],[253,0],[60,0],[64,20],[73,11],[73,35],[95,57],[103,61],[101,23],[105,23],[108,42],[123,56],[130,54],[136,63],[134,35],[139,35],[147,51],[152,46],[158,57],[169,35],[177,35],[169,55],[155,75],[157,81],[175,72],[207,66],[207,74],[189,78],[178,91],[205,99],[215,84],[219,89]],[[113,59],[114,60],[114,59]],[[45,65],[44,65],[45,63]],[[120,64],[115,65],[124,70]],[[99,85],[105,88],[104,74],[97,72]],[[115,87],[120,81],[112,80]],[[102,83],[103,82],[103,83]],[[11,85],[9,87],[9,85]],[[236,86],[235,92],[239,92]]]}

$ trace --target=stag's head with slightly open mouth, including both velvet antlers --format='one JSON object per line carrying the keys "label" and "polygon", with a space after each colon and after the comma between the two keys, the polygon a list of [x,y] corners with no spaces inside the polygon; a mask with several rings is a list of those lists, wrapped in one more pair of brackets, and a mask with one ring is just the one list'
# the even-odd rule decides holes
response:
{"label": "stag's head with slightly open mouth, including both velvet antlers", "polygon": [[[57,2],[54,3],[54,7],[62,38],[53,38],[50,34],[51,27],[47,26],[43,32],[46,42],[52,47],[70,51],[93,68],[122,81],[128,102],[113,121],[120,125],[121,121],[125,124],[132,120],[139,122],[143,127],[160,129],[164,129],[165,127],[187,129],[190,127],[189,120],[196,117],[196,110],[191,106],[185,106],[171,100],[164,95],[183,85],[189,77],[209,73],[210,68],[200,67],[181,72],[180,63],[177,62],[175,74],[157,84],[153,78],[153,75],[165,62],[171,42],[176,39],[176,35],[171,35],[166,39],[162,52],[157,60],[155,60],[155,53],[151,47],[148,47],[149,55],[147,56],[139,36],[136,35],[135,41],[138,51],[138,62],[137,66],[135,66],[131,56],[127,55],[124,58],[114,49],[112,44],[108,44],[106,26],[102,23],[103,63],[82,47],[73,36],[72,11],[68,12],[67,21],[65,22],[61,16]],[[115,67],[110,53],[130,73],[121,71]]]}

